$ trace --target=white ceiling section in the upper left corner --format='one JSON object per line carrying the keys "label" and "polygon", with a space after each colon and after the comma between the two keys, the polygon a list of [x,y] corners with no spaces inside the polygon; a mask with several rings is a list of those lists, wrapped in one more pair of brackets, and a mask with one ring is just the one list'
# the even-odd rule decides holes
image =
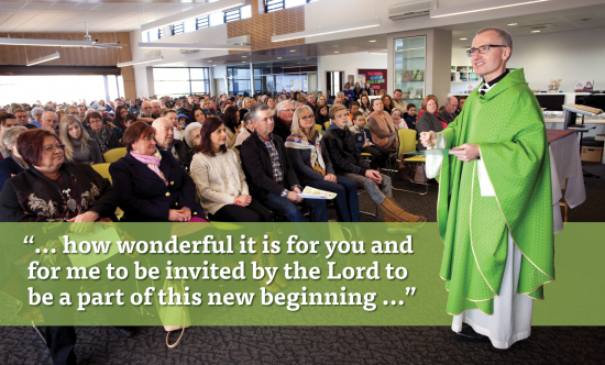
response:
{"label": "white ceiling section in the upper left corner", "polygon": [[125,32],[195,3],[0,2],[0,33]]}

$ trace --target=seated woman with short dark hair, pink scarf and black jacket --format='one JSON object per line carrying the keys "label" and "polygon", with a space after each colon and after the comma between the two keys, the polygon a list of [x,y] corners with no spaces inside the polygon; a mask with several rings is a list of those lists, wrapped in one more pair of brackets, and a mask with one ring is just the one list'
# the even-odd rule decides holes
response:
{"label": "seated woman with short dark hair, pink scarf and black jacket", "polygon": [[122,222],[206,222],[196,185],[169,151],[155,147],[155,129],[135,122],[124,132],[128,154],[109,166]]}

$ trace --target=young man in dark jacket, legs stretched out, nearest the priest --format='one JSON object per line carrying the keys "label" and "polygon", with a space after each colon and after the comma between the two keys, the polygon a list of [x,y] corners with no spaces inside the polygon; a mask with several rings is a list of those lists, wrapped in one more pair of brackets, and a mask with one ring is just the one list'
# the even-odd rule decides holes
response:
{"label": "young man in dark jacket, legs stretched out, nearest the priest", "polygon": [[426,222],[425,217],[410,214],[400,208],[393,199],[391,177],[370,169],[369,162],[362,158],[355,136],[346,128],[346,108],[332,106],[330,119],[332,123],[323,139],[336,173],[355,181],[358,188],[365,189],[383,211],[386,222]]}

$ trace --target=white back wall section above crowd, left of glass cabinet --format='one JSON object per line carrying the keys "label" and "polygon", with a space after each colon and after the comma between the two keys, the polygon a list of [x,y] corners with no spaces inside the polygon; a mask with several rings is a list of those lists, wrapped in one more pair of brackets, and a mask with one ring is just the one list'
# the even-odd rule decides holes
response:
{"label": "white back wall section above crowd, left of glass cabinet", "polygon": [[[358,69],[377,68],[386,69],[386,55],[371,55],[367,52],[349,53],[343,55],[318,57],[318,90],[326,95],[326,73],[344,71],[344,82],[349,75],[355,76],[358,81]],[[387,77],[391,77],[387,75]]]}

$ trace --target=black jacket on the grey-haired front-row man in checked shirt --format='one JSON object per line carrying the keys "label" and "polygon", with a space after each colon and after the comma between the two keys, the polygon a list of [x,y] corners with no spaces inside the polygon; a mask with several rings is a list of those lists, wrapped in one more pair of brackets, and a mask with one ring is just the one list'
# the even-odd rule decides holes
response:
{"label": "black jacket on the grey-haired front-row man in checked shirt", "polygon": [[289,190],[292,187],[300,185],[294,167],[288,159],[284,141],[274,134],[273,143],[279,154],[279,164],[284,174],[285,187],[273,179],[271,156],[267,147],[260,140],[258,133],[252,133],[242,143],[240,158],[242,159],[242,167],[250,195],[258,200],[265,199],[270,192],[280,196],[284,188]]}

